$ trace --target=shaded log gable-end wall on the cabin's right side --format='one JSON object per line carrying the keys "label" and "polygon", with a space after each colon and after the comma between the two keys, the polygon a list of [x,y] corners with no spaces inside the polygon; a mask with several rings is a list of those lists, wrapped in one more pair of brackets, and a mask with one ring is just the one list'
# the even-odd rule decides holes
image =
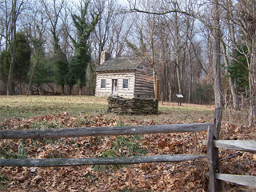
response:
{"label": "shaded log gable-end wall on the cabin's right side", "polygon": [[142,63],[135,70],[134,98],[154,98],[154,80],[151,66]]}

